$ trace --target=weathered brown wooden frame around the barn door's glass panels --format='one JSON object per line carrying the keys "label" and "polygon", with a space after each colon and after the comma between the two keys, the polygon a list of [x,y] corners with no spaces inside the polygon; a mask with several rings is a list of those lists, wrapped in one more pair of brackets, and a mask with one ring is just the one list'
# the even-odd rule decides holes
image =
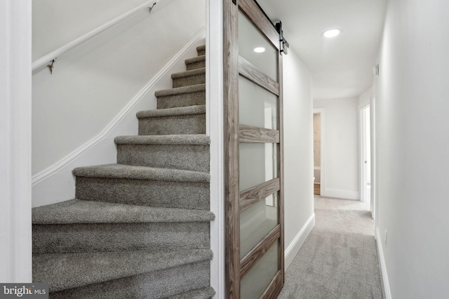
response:
{"label": "weathered brown wooden frame around the barn door's glass panels", "polygon": [[[224,159],[225,159],[225,253],[226,253],[226,292],[227,298],[240,298],[240,279],[250,270],[264,253],[279,240],[279,269],[274,278],[265,289],[261,298],[271,298],[273,294],[281,291],[284,281],[284,228],[283,228],[283,101],[282,101],[282,51],[284,44],[279,33],[274,29],[272,22],[264,15],[261,8],[253,0],[224,0],[223,3],[223,66],[224,66]],[[239,74],[245,76],[246,61],[239,57],[239,46],[237,39],[238,14],[241,11],[264,33],[267,40],[271,41],[279,51],[279,74],[277,87],[279,101],[279,134],[270,137],[275,130],[262,130],[260,128],[239,125]],[[249,66],[250,71],[256,68]],[[268,80],[265,80],[268,79]],[[264,83],[262,81],[265,81]],[[268,90],[269,78],[262,78],[260,85]],[[272,80],[271,80],[272,81]],[[267,136],[265,142],[279,142],[278,171],[279,179],[268,181],[264,184],[247,190],[251,193],[253,200],[260,200],[266,194],[279,190],[279,224],[269,232],[245,257],[240,258],[240,211],[246,202],[246,198],[239,190],[239,142],[250,141],[242,132]],[[249,138],[249,139],[245,139]],[[270,140],[271,138],[271,140]],[[273,141],[273,139],[276,141]],[[273,186],[279,186],[272,191]],[[262,186],[263,185],[263,186]],[[249,191],[249,192],[248,192]],[[270,194],[271,194],[270,193]],[[258,200],[257,200],[258,199]]]}

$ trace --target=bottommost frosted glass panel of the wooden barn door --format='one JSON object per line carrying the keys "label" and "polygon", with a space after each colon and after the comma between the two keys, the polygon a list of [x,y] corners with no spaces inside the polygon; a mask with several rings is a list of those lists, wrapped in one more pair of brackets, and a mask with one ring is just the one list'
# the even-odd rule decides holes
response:
{"label": "bottommost frosted glass panel of the wooden barn door", "polygon": [[240,281],[241,298],[259,299],[279,269],[278,242],[268,249]]}

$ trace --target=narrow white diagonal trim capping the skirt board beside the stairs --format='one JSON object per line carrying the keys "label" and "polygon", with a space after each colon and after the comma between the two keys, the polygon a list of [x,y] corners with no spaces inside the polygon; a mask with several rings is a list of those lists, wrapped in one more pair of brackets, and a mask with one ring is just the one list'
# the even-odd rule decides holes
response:
{"label": "narrow white diagonal trim capping the skirt board beside the stairs", "polygon": [[76,148],[75,151],[72,151],[72,153],[69,153],[69,155],[66,155],[64,158],[56,162],[55,164],[51,165],[50,167],[47,167],[46,169],[43,169],[41,172],[38,172],[37,174],[34,174],[32,176],[32,186],[36,185],[37,183],[40,183],[44,179],[48,178],[48,176],[51,176],[55,172],[58,172],[58,170],[62,169],[62,167],[65,167],[65,165],[69,164],[69,162],[72,162],[74,159],[78,158],[79,155],[89,150],[89,148],[92,148],[95,146],[95,144],[98,144],[100,141],[105,139],[107,135],[114,130],[114,128],[119,125],[121,120],[125,118],[125,116],[133,109],[133,107],[138,104],[140,99],[144,97],[149,90],[153,88],[153,86],[164,76],[168,73],[171,67],[181,59],[183,55],[194,46],[194,43],[201,39],[202,36],[206,34],[206,28],[201,29],[196,35],[187,43],[184,48],[182,48],[157,74],[154,76],[148,83],[145,85],[140,92],[138,92],[137,95],[120,111],[120,113],[105,127],[100,134],[93,137],[93,139],[86,142],[86,144],[83,144],[79,148]]}

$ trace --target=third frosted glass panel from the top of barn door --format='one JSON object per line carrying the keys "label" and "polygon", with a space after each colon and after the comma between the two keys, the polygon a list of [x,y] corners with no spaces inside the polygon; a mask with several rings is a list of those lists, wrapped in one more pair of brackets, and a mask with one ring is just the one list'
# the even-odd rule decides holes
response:
{"label": "third frosted glass panel from the top of barn door", "polygon": [[240,191],[278,177],[277,144],[239,144]]}

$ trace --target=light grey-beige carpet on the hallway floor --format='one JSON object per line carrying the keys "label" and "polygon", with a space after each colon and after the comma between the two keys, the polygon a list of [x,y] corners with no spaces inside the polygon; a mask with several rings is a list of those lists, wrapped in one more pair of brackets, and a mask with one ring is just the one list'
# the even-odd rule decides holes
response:
{"label": "light grey-beige carpet on the hallway floor", "polygon": [[382,298],[369,202],[315,195],[316,224],[278,298]]}

